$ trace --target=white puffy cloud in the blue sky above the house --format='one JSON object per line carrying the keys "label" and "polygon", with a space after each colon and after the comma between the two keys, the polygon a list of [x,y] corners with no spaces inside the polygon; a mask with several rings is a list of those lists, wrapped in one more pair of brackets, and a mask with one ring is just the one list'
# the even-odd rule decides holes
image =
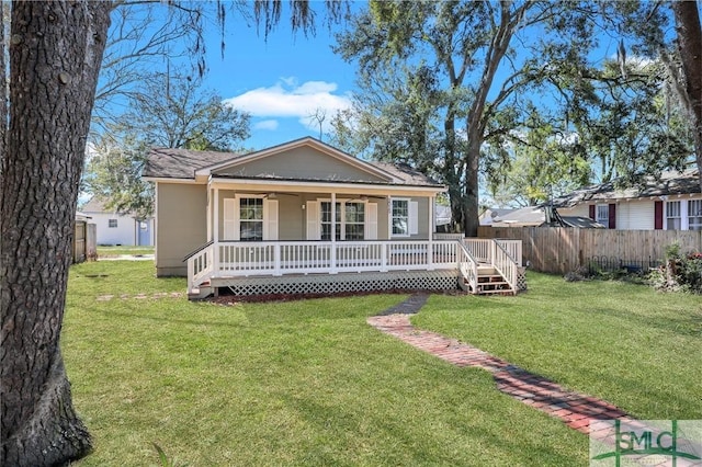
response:
{"label": "white puffy cloud in the blue sky above the house", "polygon": [[[322,128],[327,130],[332,115],[339,110],[351,106],[351,99],[348,95],[335,94],[337,89],[338,86],[333,82],[307,81],[298,84],[294,77],[288,77],[281,78],[269,88],[257,88],[226,99],[224,102],[240,111],[249,112],[254,117],[294,117],[305,127],[316,130],[319,129],[319,122],[310,116],[318,113],[325,115]],[[260,124],[265,122],[271,121]]]}

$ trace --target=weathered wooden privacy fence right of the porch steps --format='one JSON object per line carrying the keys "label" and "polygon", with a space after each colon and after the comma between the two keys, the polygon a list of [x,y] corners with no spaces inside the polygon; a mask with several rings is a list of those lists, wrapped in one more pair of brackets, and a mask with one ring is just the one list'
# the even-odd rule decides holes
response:
{"label": "weathered wooden privacy fence right of the porch steps", "polygon": [[479,238],[522,241],[524,263],[547,273],[565,274],[588,266],[592,258],[630,261],[656,261],[666,255],[666,247],[680,244],[680,251],[702,251],[702,231],[694,230],[608,230],[566,227],[478,228]]}

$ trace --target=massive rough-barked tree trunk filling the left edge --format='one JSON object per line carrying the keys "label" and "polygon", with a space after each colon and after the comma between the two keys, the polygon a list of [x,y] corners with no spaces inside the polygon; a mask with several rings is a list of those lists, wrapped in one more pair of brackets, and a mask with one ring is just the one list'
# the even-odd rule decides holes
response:
{"label": "massive rough-barked tree trunk filling the left edge", "polygon": [[1,465],[61,465],[90,449],[59,332],[110,8],[88,0],[12,5],[0,195]]}

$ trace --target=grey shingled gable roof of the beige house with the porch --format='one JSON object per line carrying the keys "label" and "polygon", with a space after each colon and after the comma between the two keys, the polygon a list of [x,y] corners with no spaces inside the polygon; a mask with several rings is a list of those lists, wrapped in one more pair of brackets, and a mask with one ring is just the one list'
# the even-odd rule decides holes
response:
{"label": "grey shingled gable roof of the beige house with the porch", "polygon": [[[393,164],[388,162],[364,161],[350,156],[332,146],[326,145],[318,139],[305,137],[278,145],[271,148],[262,149],[246,155],[237,155],[234,152],[215,152],[215,151],[194,151],[188,149],[152,149],[148,156],[143,176],[147,179],[180,179],[194,180],[204,176],[217,178],[237,178],[237,179],[276,179],[276,180],[296,180],[296,181],[325,181],[333,182],[333,178],[326,179],[285,179],[275,174],[258,174],[256,176],[245,176],[239,173],[228,173],[236,168],[251,161],[260,160],[283,151],[299,147],[310,147],[331,158],[342,161],[349,166],[359,169],[362,172],[372,175],[375,181],[373,184],[400,184],[414,186],[442,186],[435,180],[418,172],[407,164]],[[377,181],[380,180],[380,182]],[[344,183],[369,183],[369,180],[349,181]]]}

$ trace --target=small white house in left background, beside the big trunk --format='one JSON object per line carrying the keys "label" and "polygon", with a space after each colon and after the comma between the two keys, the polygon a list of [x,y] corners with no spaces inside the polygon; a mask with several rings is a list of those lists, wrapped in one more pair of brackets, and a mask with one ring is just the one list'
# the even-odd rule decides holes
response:
{"label": "small white house in left background, beside the big trunk", "polygon": [[98,244],[152,246],[154,218],[137,219],[132,215],[105,209],[104,204],[93,197],[82,208],[97,226]]}

